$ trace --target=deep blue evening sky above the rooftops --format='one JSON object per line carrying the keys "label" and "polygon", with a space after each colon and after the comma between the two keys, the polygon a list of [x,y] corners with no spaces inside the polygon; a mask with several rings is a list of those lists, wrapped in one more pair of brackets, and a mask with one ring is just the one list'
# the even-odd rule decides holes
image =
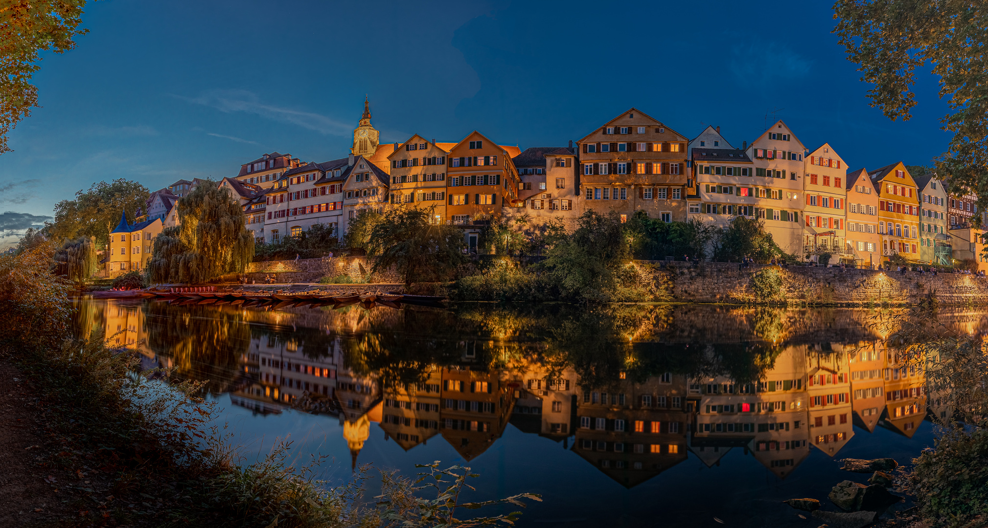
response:
{"label": "deep blue evening sky above the rooftops", "polygon": [[889,121],[834,23],[828,2],[91,3],[90,34],[44,55],[42,108],[0,155],[0,242],[100,180],[153,190],[275,150],[346,157],[365,94],[382,142],[564,145],[635,107],[736,146],[768,113],[849,168],[928,164],[948,141],[936,79]]}

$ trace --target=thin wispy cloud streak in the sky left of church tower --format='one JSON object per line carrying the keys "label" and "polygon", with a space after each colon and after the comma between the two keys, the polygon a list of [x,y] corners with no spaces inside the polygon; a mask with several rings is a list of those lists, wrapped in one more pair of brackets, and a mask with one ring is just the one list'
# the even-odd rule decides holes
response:
{"label": "thin wispy cloud streak in the sky left of church tower", "polygon": [[323,134],[346,136],[353,127],[319,113],[302,112],[263,103],[247,90],[210,90],[199,97],[173,96],[182,101],[211,107],[223,113],[254,113],[276,121],[296,124]]}

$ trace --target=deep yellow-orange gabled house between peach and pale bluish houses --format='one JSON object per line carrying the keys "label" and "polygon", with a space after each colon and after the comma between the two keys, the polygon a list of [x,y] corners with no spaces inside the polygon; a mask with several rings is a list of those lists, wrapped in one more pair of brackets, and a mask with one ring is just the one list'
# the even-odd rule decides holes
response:
{"label": "deep yellow-orange gabled house between peach and pale bluish houses", "polygon": [[878,232],[883,261],[894,255],[918,261],[920,236],[920,200],[916,182],[903,163],[868,173],[878,191]]}

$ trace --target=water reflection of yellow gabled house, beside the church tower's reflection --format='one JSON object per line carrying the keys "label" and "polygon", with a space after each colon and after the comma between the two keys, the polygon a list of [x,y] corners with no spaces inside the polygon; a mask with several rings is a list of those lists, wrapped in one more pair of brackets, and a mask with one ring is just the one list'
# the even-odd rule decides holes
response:
{"label": "water reflection of yellow gabled house, beside the church tower's reflection", "polygon": [[439,433],[441,371],[430,367],[425,381],[384,392],[380,428],[408,451]]}

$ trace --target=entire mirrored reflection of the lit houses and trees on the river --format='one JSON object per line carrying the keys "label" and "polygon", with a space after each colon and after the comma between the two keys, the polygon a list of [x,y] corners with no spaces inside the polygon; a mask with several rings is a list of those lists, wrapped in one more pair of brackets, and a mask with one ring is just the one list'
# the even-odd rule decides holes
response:
{"label": "entire mirrored reflection of the lit houses and trees on the river", "polygon": [[[333,416],[354,466],[371,424],[404,451],[450,444],[466,461],[509,423],[551,439],[625,488],[731,450],[785,479],[876,426],[911,437],[947,417],[923,373],[868,327],[866,310],[712,306],[454,310],[350,306],[252,310],[79,303],[81,335],[106,333],[149,366],[207,380],[256,415]],[[945,311],[982,330],[980,315]],[[929,398],[928,398],[929,396]],[[930,405],[928,405],[928,403]]]}

